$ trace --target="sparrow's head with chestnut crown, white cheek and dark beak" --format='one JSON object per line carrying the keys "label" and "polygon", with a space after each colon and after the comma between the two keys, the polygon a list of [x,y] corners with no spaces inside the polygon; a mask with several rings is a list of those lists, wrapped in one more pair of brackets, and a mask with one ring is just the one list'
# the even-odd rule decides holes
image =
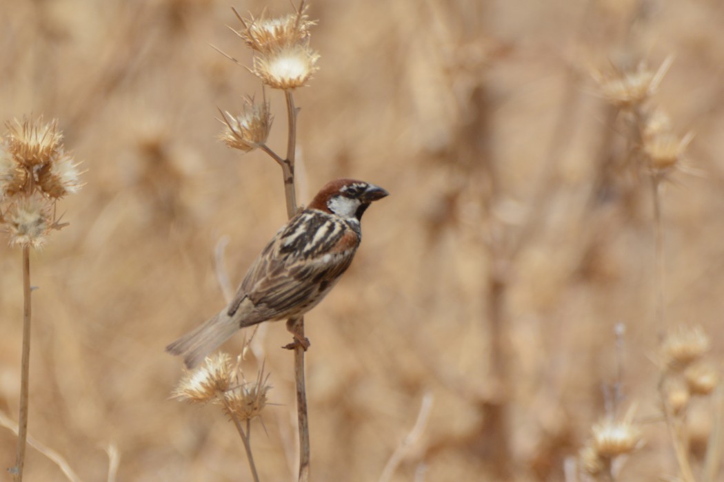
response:
{"label": "sparrow's head with chestnut crown, white cheek and dark beak", "polygon": [[324,186],[308,208],[336,214],[345,219],[361,220],[371,202],[390,194],[379,186],[354,179],[337,179]]}

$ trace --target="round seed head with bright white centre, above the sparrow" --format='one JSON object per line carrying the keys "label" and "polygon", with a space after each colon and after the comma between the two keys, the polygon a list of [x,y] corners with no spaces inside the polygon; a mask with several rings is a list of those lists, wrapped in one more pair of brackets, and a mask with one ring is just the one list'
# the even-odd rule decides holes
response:
{"label": "round seed head with bright white centre, above the sparrow", "polygon": [[317,60],[319,54],[306,44],[285,46],[255,56],[253,72],[269,87],[290,90],[306,85]]}

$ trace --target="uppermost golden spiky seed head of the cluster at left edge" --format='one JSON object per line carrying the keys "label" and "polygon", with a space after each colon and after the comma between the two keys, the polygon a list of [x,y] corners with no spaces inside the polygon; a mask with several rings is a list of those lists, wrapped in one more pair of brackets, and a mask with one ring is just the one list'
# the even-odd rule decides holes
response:
{"label": "uppermost golden spiky seed head of the cluster at left edge", "polygon": [[31,122],[15,119],[7,123],[7,148],[17,163],[33,168],[51,162],[59,154],[63,134],[57,130],[57,121],[43,124],[43,118]]}

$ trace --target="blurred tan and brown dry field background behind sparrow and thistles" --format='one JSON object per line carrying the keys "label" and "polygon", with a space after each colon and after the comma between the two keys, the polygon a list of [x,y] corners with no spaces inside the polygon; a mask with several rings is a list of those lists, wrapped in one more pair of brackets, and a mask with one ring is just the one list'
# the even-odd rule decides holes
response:
{"label": "blurred tan and brown dry field background behind sparrow and thistles", "polygon": [[[637,403],[646,439],[624,477],[676,475],[657,344],[670,325],[699,324],[720,363],[724,342],[720,2],[316,0],[310,16],[321,69],[295,93],[298,198],[342,176],[391,193],[307,317],[313,480],[377,481],[400,447],[393,481],[564,480],[617,382],[615,408]],[[261,96],[211,48],[251,65],[227,25],[227,1],[0,3],[0,119],[59,119],[87,169],[59,205],[70,226],[31,262],[30,434],[84,481],[106,480],[108,447],[119,481],[251,480],[218,408],[169,399],[182,365],[164,353],[224,304],[217,246],[236,284],[285,221],[277,165],[216,139],[217,108]],[[662,324],[651,187],[616,162],[631,145],[592,72],[669,56],[651,102],[696,138],[662,197]],[[266,96],[283,152],[283,98]],[[0,410],[17,418],[21,254],[0,251]],[[264,361],[274,386],[253,424],[264,481],[296,473],[289,338],[270,324],[245,360],[251,376]],[[696,402],[694,462],[723,430],[715,404]],[[0,466],[14,454],[0,429]],[[25,473],[67,480],[34,449]]]}

